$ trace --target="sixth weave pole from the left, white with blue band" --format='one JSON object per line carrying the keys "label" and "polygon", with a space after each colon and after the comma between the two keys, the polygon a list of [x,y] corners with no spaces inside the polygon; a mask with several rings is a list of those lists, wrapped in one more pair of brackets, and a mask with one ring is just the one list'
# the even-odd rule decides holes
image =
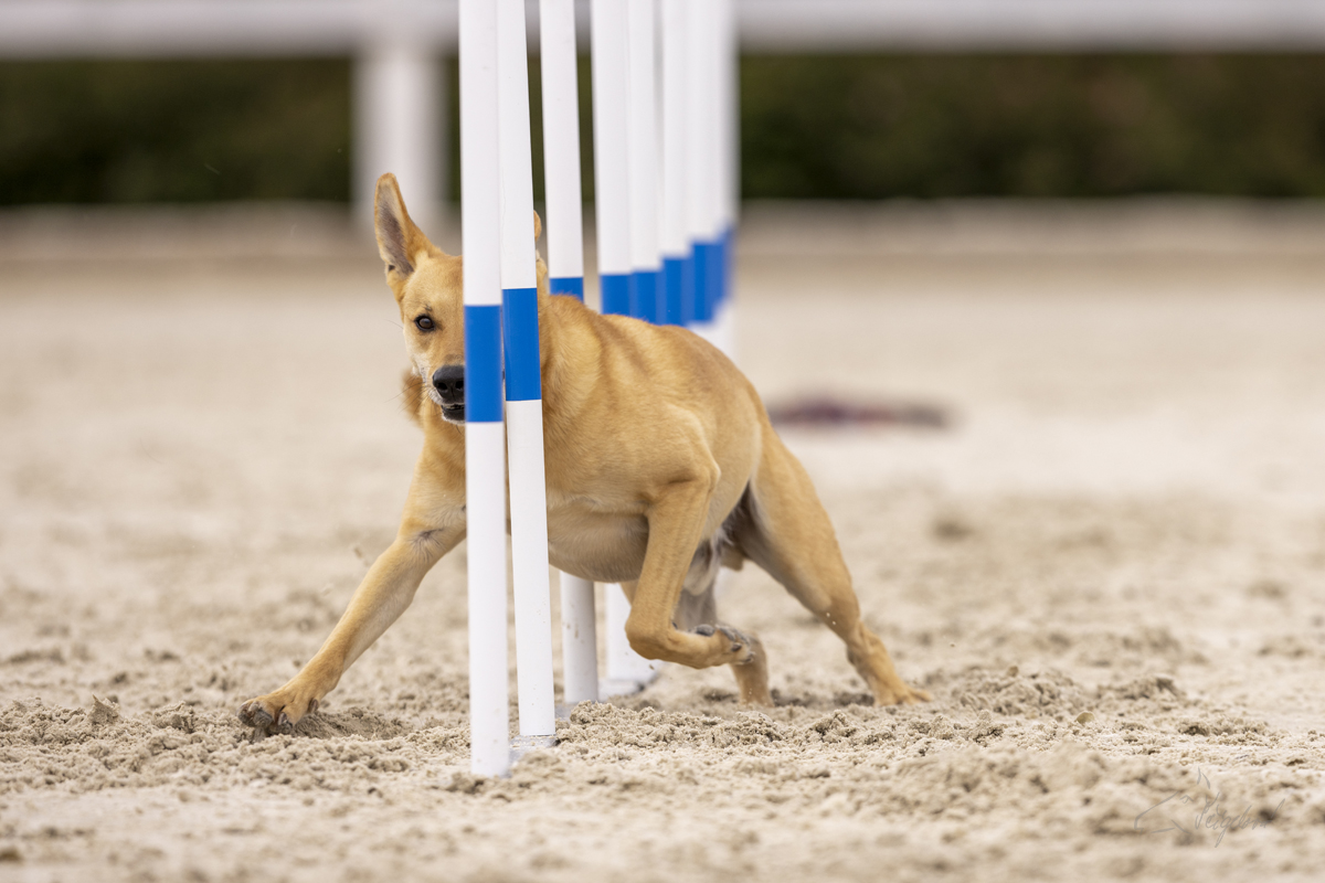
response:
{"label": "sixth weave pole from the left, white with blue band", "polygon": [[694,320],[694,291],[685,287],[689,258],[685,184],[686,98],[686,0],[662,4],[662,168],[659,245],[662,252],[664,324],[685,326]]}

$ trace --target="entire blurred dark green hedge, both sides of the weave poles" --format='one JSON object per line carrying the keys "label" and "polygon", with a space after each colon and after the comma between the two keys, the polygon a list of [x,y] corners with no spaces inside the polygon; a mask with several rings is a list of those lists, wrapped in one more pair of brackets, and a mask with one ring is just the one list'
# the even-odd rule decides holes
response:
{"label": "entire blurred dark green hedge, both sides of the weave poles", "polygon": [[[1325,196],[1325,56],[747,57],[741,94],[747,199]],[[0,64],[5,205],[347,200],[350,150],[344,60]]]}

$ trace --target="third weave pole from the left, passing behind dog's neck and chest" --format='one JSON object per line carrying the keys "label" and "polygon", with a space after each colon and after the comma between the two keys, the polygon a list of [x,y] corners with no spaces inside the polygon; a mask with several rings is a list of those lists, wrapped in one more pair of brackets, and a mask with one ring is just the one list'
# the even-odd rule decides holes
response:
{"label": "third weave pole from the left, passing behind dog's neck and chest", "polygon": [[[547,285],[584,299],[580,216],[579,95],[574,0],[539,0],[543,71],[543,177],[547,189]],[[567,708],[598,702],[594,582],[562,573],[562,698]]]}

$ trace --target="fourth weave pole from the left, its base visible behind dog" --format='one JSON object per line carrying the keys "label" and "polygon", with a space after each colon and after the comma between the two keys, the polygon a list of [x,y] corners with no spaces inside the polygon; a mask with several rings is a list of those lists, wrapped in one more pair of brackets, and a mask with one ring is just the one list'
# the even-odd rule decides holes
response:
{"label": "fourth weave pole from the left, its base visible behind dog", "polygon": [[[631,162],[628,3],[594,0],[590,9],[594,81],[594,204],[598,213],[598,270],[602,310],[631,310]],[[656,183],[655,183],[656,187]],[[631,606],[620,585],[604,586],[607,678],[602,695],[636,692],[657,673],[625,638]]]}

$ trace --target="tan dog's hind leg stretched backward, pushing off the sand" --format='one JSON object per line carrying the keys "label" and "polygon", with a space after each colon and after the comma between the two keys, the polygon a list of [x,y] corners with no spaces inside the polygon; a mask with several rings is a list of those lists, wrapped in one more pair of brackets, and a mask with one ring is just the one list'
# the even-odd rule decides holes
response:
{"label": "tan dog's hind leg stretched backward, pushing off the sand", "polygon": [[837,536],[814,485],[782,440],[767,429],[751,486],[731,519],[731,537],[755,564],[822,620],[847,645],[847,658],[880,704],[929,699],[909,687],[860,618],[860,602]]}

